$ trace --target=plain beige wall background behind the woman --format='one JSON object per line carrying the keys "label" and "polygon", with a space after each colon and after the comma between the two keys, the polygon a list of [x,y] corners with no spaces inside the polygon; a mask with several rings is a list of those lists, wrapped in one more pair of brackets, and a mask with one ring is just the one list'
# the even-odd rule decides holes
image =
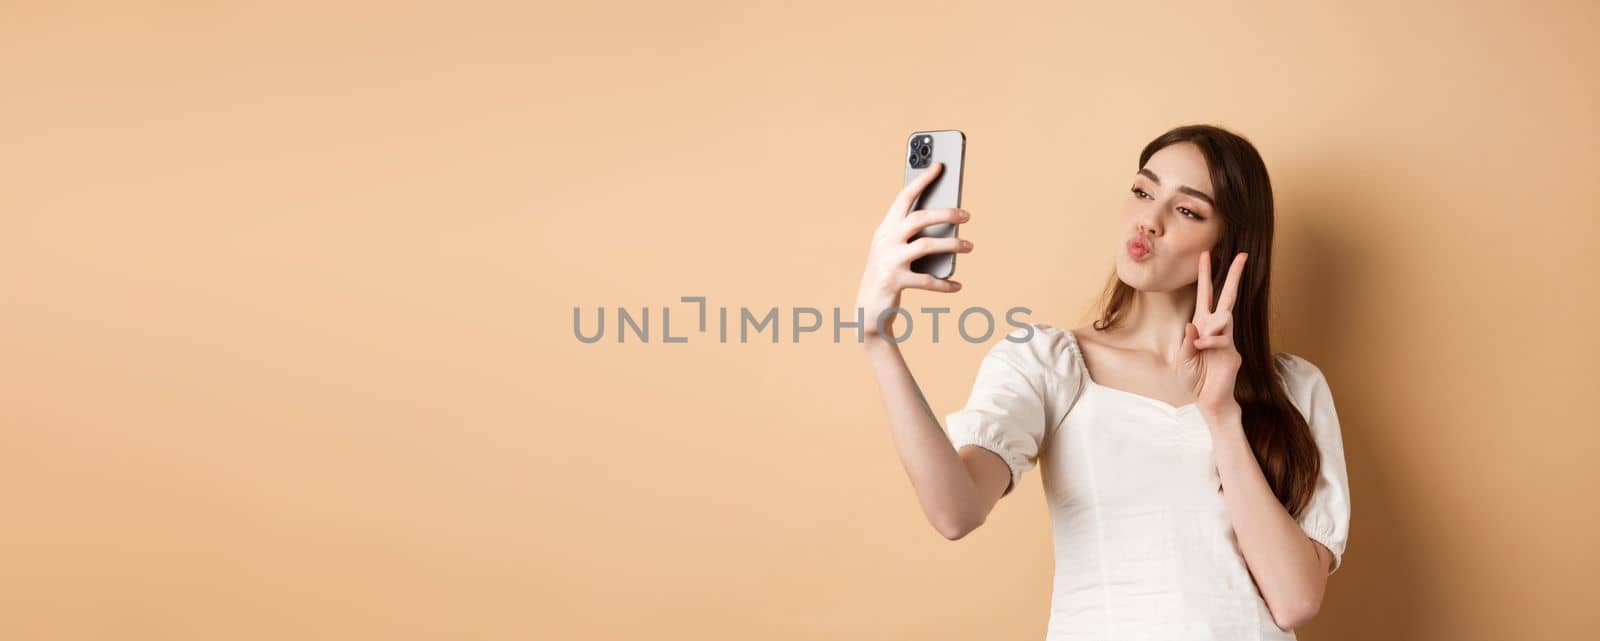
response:
{"label": "plain beige wall background behind the woman", "polygon": [[[235,5],[0,13],[8,639],[1043,638],[1037,470],[947,542],[856,345],[678,297],[850,305],[962,128],[966,289],[907,304],[1082,323],[1189,121],[1266,157],[1344,422],[1301,636],[1595,633],[1592,2]],[[906,353],[944,414],[986,348]]]}

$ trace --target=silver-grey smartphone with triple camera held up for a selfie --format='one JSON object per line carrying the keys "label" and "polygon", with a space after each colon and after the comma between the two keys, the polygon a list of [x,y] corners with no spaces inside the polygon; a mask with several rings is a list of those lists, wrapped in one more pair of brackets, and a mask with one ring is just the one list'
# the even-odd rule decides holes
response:
{"label": "silver-grey smartphone with triple camera held up for a selfie", "polygon": [[[906,179],[901,182],[904,187],[907,182],[915,179],[933,163],[944,163],[944,171],[939,177],[933,179],[928,187],[922,190],[922,195],[912,203],[910,209],[944,209],[962,206],[962,160],[966,158],[966,134],[957,129],[941,129],[941,131],[915,131],[906,139]],[[922,237],[954,237],[957,232],[955,224],[941,222],[936,225],[928,225],[912,235],[912,240]],[[917,273],[931,273],[934,278],[944,280],[955,275],[955,253],[944,254],[928,254],[910,262],[910,270]]]}

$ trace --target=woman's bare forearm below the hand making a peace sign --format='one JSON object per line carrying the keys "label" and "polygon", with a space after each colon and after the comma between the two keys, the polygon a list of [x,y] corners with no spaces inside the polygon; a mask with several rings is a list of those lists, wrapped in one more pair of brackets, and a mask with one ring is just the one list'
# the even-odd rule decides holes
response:
{"label": "woman's bare forearm below the hand making a peace sign", "polygon": [[1222,502],[1238,539],[1245,564],[1280,628],[1291,630],[1317,614],[1328,572],[1315,542],[1272,494],[1256,462],[1240,412],[1206,416]]}

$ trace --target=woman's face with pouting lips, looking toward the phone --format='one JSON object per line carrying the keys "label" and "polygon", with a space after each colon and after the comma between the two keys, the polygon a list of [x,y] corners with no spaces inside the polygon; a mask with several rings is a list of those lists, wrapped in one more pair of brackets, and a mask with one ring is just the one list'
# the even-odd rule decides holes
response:
{"label": "woman's face with pouting lips, looking toward the phone", "polygon": [[[1139,291],[1173,291],[1200,278],[1200,253],[1222,238],[1205,155],[1178,142],[1150,155],[1122,206],[1117,277]],[[1142,238],[1144,249],[1134,245]]]}

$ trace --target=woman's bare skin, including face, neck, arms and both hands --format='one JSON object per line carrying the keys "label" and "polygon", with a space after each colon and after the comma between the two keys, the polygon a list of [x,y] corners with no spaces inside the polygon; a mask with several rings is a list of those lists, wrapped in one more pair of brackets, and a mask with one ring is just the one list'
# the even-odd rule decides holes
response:
{"label": "woman's bare skin, including face, neck, arms and both hands", "polygon": [[[960,283],[909,269],[918,256],[973,249],[970,240],[958,238],[907,243],[926,225],[971,221],[963,209],[907,211],[941,169],[931,166],[890,205],[874,233],[856,304],[869,321],[862,348],[890,416],[896,452],[928,521],[946,539],[957,540],[987,521],[1011,481],[1010,468],[987,449],[950,448],[899,345],[885,337],[894,331],[893,317],[883,326],[872,323],[878,312],[899,305],[907,288],[960,289]],[[1274,622],[1293,630],[1320,609],[1333,555],[1310,540],[1272,496],[1234,400],[1240,355],[1234,345],[1232,307],[1248,256],[1234,257],[1222,291],[1213,299],[1210,249],[1224,222],[1206,200],[1214,190],[1205,157],[1194,144],[1181,142],[1155,152],[1142,169],[1134,174],[1122,208],[1123,233],[1117,240],[1117,275],[1138,291],[1134,302],[1122,328],[1106,332],[1078,328],[1074,334],[1096,382],[1173,406],[1195,403],[1205,416],[1240,551]],[[1126,251],[1134,235],[1149,240],[1152,256],[1146,261],[1133,261]]]}

